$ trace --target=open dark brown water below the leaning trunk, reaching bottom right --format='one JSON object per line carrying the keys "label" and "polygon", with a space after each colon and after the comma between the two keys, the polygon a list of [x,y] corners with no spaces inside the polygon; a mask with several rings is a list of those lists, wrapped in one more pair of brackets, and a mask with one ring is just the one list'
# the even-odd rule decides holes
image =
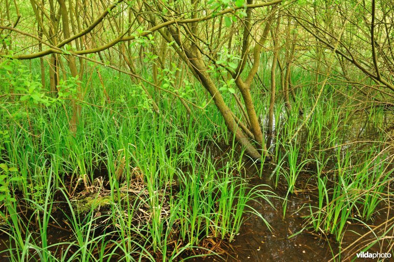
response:
{"label": "open dark brown water below the leaning trunk, reaching bottom right", "polygon": [[[265,169],[262,178],[257,177],[256,167],[246,165],[246,176],[250,178],[250,184],[260,185],[266,184],[265,189],[269,189],[278,194],[280,198],[271,198],[273,207],[266,203],[253,203],[251,206],[259,211],[264,219],[272,227],[270,231],[261,218],[252,216],[244,221],[239,235],[235,241],[230,244],[229,254],[222,255],[226,261],[330,261],[334,255],[338,255],[340,247],[335,242],[334,236],[325,236],[313,232],[312,229],[302,229],[305,227],[304,216],[310,214],[309,204],[318,206],[317,188],[310,188],[310,174],[301,174],[296,183],[296,192],[288,198],[288,204],[285,217],[283,218],[283,202],[286,196],[286,181],[280,179],[277,189],[273,188],[272,180],[268,177],[272,174],[273,167]],[[314,189],[314,190],[313,190]],[[387,218],[394,216],[394,208],[388,207],[386,204],[380,204],[380,211],[374,217],[371,228],[385,223]],[[379,210],[379,207],[377,210]],[[388,215],[388,210],[390,210]],[[301,233],[299,233],[302,231]],[[365,225],[357,222],[348,222],[345,234],[342,240],[342,249],[352,244],[360,238],[361,235],[369,233],[370,229]],[[294,235],[294,236],[292,236]],[[292,237],[290,237],[292,236]],[[363,244],[370,243],[376,239],[373,234],[369,233],[358,244],[354,245],[354,249],[348,249],[340,254],[340,261],[355,260],[368,261],[368,259],[357,259],[356,253],[361,250],[361,242]],[[390,241],[391,239],[391,241]],[[393,245],[394,232],[388,235],[388,241],[378,242],[368,251],[386,253],[390,252]],[[219,261],[220,259],[209,257],[207,261]],[[337,261],[335,259],[335,261]],[[369,260],[372,261],[372,260]],[[375,259],[375,261],[377,261]],[[383,261],[383,260],[381,260]],[[394,261],[394,259],[386,259],[385,261]]]}

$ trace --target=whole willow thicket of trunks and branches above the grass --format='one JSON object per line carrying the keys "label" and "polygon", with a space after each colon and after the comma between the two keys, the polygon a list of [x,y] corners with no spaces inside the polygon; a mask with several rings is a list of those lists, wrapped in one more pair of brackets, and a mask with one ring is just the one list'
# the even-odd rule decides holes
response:
{"label": "whole willow thicket of trunks and branches above the grass", "polygon": [[[254,159],[268,154],[258,117],[260,112],[256,112],[256,103],[268,96],[256,100],[251,92],[252,83],[259,78],[262,50],[273,50],[277,56],[272,60],[271,71],[275,71],[277,63],[289,112],[292,110],[289,97],[295,97],[291,87],[292,66],[305,68],[298,61],[297,48],[301,45],[303,54],[315,59],[308,64],[317,76],[325,72],[324,66],[340,68],[341,81],[355,87],[355,93],[392,105],[393,8],[385,0],[370,3],[349,0],[342,4],[326,0],[286,3],[282,0],[31,0],[14,1],[13,7],[8,2],[1,2],[4,8],[0,11],[0,54],[14,59],[41,58],[44,86],[42,58],[46,59],[48,89],[53,93],[60,83],[75,82],[76,93],[70,97],[71,132],[76,131],[81,113],[79,102],[85,93],[79,80],[89,70],[93,72],[86,60],[129,74],[147,97],[156,97],[150,101],[159,115],[160,94],[150,93],[145,86],[177,96],[189,115],[193,115],[193,108],[201,107],[177,94],[185,75],[191,75],[206,89],[227,128]],[[324,12],[317,12],[319,8]],[[24,17],[24,13],[34,16]],[[271,28],[275,23],[275,28]],[[270,35],[285,42],[270,41]],[[326,58],[326,50],[337,55],[334,65],[328,64],[333,61]],[[147,67],[147,61],[152,66]],[[145,79],[146,70],[151,70],[151,79]],[[169,73],[173,75],[171,79],[178,78],[177,82],[165,81],[165,74]],[[276,83],[275,72],[271,73],[269,115],[272,117]],[[354,77],[360,75],[370,81]],[[102,79],[101,83],[105,92]],[[172,86],[172,91],[166,90],[165,85]],[[223,92],[231,93],[237,110],[230,107]]]}

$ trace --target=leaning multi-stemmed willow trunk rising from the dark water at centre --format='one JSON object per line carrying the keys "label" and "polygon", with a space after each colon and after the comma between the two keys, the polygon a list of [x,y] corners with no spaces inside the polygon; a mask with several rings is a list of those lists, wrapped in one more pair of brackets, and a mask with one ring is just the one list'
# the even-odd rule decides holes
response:
{"label": "leaning multi-stemmed willow trunk rising from the dark water at centre", "polygon": [[[246,148],[248,154],[256,159],[261,158],[262,153],[267,154],[267,150],[263,141],[262,127],[255,111],[255,101],[252,99],[250,87],[260,66],[260,52],[267,39],[267,34],[270,30],[276,8],[273,7],[269,12],[266,12],[264,15],[265,19],[263,22],[258,23],[260,27],[257,27],[257,29],[252,28],[252,21],[254,18],[253,9],[268,5],[276,5],[280,2],[280,0],[275,0],[253,4],[253,1],[250,0],[246,4],[236,3],[236,6],[227,8],[217,14],[211,12],[212,14],[202,16],[199,13],[209,13],[209,7],[203,6],[201,9],[198,1],[192,1],[191,9],[182,10],[182,12],[171,10],[172,12],[167,13],[169,17],[176,17],[182,13],[191,13],[191,19],[187,20],[188,23],[185,23],[186,21],[180,21],[160,30],[160,33],[168,42],[175,41],[175,51],[188,65],[189,69],[202,86],[211,94],[228,129],[235,135],[236,140]],[[224,5],[224,8],[226,7],[228,7],[227,4]],[[156,8],[163,12],[166,7],[157,5]],[[237,12],[237,10],[241,10],[241,12]],[[151,11],[153,12],[154,10]],[[231,18],[228,16],[229,14]],[[237,25],[238,30],[242,31],[242,44],[240,52],[238,56],[236,56],[239,60],[238,64],[234,61],[216,59],[219,57],[218,52],[221,51],[220,47],[224,42],[219,43],[218,46],[212,47],[209,43],[204,41],[207,35],[204,37],[202,34],[203,29],[207,25],[202,24],[202,22],[219,15],[225,17],[225,21],[228,25],[232,24],[232,21],[237,22],[237,19],[241,20]],[[243,18],[241,19],[240,17]],[[151,19],[154,19],[154,17],[151,16]],[[166,23],[168,21],[169,20],[163,16],[160,22]],[[263,27],[261,27],[262,24]],[[215,30],[215,26],[215,24],[211,25],[212,31]],[[260,28],[263,28],[263,30],[260,30]],[[218,38],[221,39],[222,36],[219,35]],[[253,46],[252,49],[250,48],[251,46]],[[246,77],[242,78],[241,74],[245,69],[249,53],[253,54],[253,63]],[[209,67],[213,68],[213,70],[209,70]],[[226,105],[217,84],[210,74],[210,71],[215,70],[220,72],[221,78],[225,79],[226,83],[233,83],[234,86],[238,88],[243,99],[243,104],[239,103],[238,105],[241,108],[241,112],[244,113],[243,117],[246,119],[244,122],[242,119],[235,116]],[[230,79],[226,79],[228,74],[225,74],[225,72],[230,73]],[[227,89],[236,96],[234,89],[230,87],[230,85]],[[237,101],[239,101],[239,99],[237,99]],[[247,126],[247,124],[249,126]]]}

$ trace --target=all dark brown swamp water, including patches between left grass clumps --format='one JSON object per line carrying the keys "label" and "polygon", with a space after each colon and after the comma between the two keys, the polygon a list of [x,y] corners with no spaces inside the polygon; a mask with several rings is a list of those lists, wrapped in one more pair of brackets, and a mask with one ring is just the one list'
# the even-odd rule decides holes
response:
{"label": "all dark brown swamp water, including patches between left grass clumps", "polygon": [[[221,162],[226,161],[226,153],[231,150],[231,147],[225,144],[209,145],[207,148],[210,151],[210,157],[222,159],[218,161],[219,166],[221,166]],[[241,149],[236,147],[236,151],[241,151]],[[252,201],[249,203],[252,208],[263,215],[264,219],[271,226],[271,231],[261,218],[246,213],[241,230],[233,242],[213,240],[212,245],[207,247],[208,249],[215,249],[219,256],[199,257],[191,259],[192,261],[329,261],[333,256],[339,254],[341,261],[352,260],[362,247],[376,239],[371,229],[383,224],[394,216],[393,204],[381,202],[378,205],[377,214],[373,217],[373,221],[368,223],[368,226],[357,223],[357,221],[348,221],[342,239],[342,246],[339,247],[332,235],[316,233],[306,224],[305,217],[310,215],[309,205],[318,206],[317,187],[313,186],[316,183],[310,182],[310,172],[301,172],[299,174],[295,192],[287,197],[288,204],[284,215],[283,203],[287,196],[287,184],[284,177],[281,176],[275,188],[272,178],[275,166],[267,163],[262,168],[261,164],[251,163],[246,157],[243,159],[243,165],[244,172],[239,175],[247,178],[251,187],[261,185],[262,189],[271,190],[277,194],[277,197],[269,198],[272,206],[266,202]],[[314,169],[314,167],[309,168]],[[263,170],[262,174],[260,174],[261,177],[259,177],[258,172],[260,169]],[[102,184],[105,184],[106,176],[107,171],[105,169],[97,170],[95,174],[95,178],[98,178],[98,181],[101,181]],[[393,182],[389,186],[394,186]],[[104,188],[107,191],[109,189],[105,185]],[[75,192],[82,204],[88,203],[87,198],[92,197],[92,194],[84,192],[82,184],[76,188]],[[100,197],[105,198],[105,194]],[[69,230],[70,227],[67,225],[66,220],[63,219],[65,215],[70,215],[69,212],[65,211],[69,210],[69,208],[61,194],[58,194],[55,200],[56,204],[54,204],[52,215],[58,224],[49,224],[47,232],[48,243],[73,241],[73,233]],[[100,216],[101,213],[105,212],[105,201],[102,204],[101,210],[97,210],[95,216]],[[19,212],[27,220],[31,219],[29,209],[25,208],[23,204],[19,206]],[[143,213],[144,210],[141,212]],[[104,230],[104,222],[101,225],[97,224],[96,230],[98,232],[100,229]],[[378,232],[376,233],[378,234]],[[361,235],[364,236],[361,237]],[[32,237],[39,237],[39,233],[37,232]],[[391,235],[387,235],[386,241],[377,241],[368,251],[388,252],[388,249],[393,245],[392,240],[390,240],[393,237],[394,232],[391,232]],[[354,244],[355,241],[357,242],[356,244]],[[7,248],[9,248],[8,235],[0,233],[0,250]],[[62,245],[58,245],[54,251],[58,252],[60,256],[63,256],[64,252],[73,252],[72,249],[64,250]],[[193,254],[189,252],[187,256]],[[116,261],[116,258],[112,258],[112,260]],[[2,261],[7,261],[7,254],[2,254]]]}

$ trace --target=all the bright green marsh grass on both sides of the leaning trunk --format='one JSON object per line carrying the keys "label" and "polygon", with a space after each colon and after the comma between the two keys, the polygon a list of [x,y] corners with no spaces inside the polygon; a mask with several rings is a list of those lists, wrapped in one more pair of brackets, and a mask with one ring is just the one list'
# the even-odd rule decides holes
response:
{"label": "all the bright green marsh grass on both sides of the leaning trunk", "polygon": [[[91,83],[82,79],[92,88],[74,135],[68,131],[66,101],[9,103],[14,118],[0,116],[0,163],[7,167],[0,175],[10,177],[1,183],[0,194],[0,230],[10,240],[3,255],[11,261],[172,261],[213,254],[206,239],[233,241],[249,215],[269,228],[252,203],[271,204],[274,193],[245,178],[244,151],[213,103],[186,115],[182,103],[163,92],[157,115],[127,76],[114,78],[110,69],[100,70],[112,100],[106,100],[98,77]],[[294,82],[297,76],[312,81],[300,73],[293,75]],[[203,105],[206,93],[192,85],[196,95],[188,99]],[[0,86],[9,88],[7,83]],[[252,90],[256,99],[261,90]],[[356,117],[356,124],[349,113],[355,105],[343,105],[340,96],[326,91],[304,130],[292,139],[305,120],[298,108],[308,112],[316,102],[311,92],[296,90],[292,112],[278,96],[269,149],[276,165],[272,177],[275,187],[282,177],[286,183],[284,212],[287,198],[302,191],[299,177],[313,177],[308,181],[316,182],[318,201],[308,206],[308,222],[341,242],[348,222],[373,221],[379,205],[392,197],[384,193],[393,163],[390,149],[382,146],[389,143],[382,136],[385,112],[372,107],[361,120]],[[241,115],[233,97],[223,95]],[[267,103],[256,105],[262,119]],[[376,143],[357,143],[367,130],[377,129]],[[220,148],[223,144],[226,148]],[[255,166],[262,177],[266,166]],[[82,208],[77,203],[85,197],[90,205]],[[29,217],[19,212],[20,203],[31,210]],[[65,207],[64,224],[55,216],[59,206]],[[47,231],[53,225],[69,230],[71,238],[49,243]],[[195,253],[197,248],[203,252]]]}

